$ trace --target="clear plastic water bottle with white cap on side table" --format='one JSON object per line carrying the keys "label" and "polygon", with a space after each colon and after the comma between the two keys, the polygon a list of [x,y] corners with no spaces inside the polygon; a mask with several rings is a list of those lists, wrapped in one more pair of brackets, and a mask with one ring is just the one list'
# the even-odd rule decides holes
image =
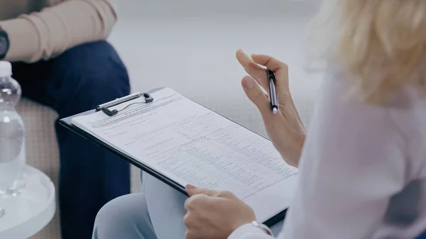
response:
{"label": "clear plastic water bottle with white cap on side table", "polygon": [[0,196],[15,196],[25,187],[25,133],[15,110],[21,86],[11,75],[11,63],[0,61]]}

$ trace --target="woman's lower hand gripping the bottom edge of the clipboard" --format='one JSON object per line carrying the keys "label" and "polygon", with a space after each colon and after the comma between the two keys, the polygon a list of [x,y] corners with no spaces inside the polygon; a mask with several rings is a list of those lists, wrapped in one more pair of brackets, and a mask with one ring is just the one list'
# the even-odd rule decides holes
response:
{"label": "woman's lower hand gripping the bottom edge of the clipboard", "polygon": [[190,198],[187,211],[186,239],[226,239],[240,226],[256,221],[253,210],[229,191],[186,187]]}

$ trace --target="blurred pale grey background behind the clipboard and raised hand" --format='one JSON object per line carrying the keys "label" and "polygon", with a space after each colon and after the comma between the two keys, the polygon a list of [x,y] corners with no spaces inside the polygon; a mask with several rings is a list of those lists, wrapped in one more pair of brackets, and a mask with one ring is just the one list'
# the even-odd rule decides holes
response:
{"label": "blurred pale grey background behind the clipboard and raised hand", "polygon": [[110,41],[128,67],[133,91],[171,87],[265,135],[241,89],[234,57],[269,54],[288,63],[302,118],[312,109],[320,74],[307,74],[305,32],[320,0],[126,0]]}

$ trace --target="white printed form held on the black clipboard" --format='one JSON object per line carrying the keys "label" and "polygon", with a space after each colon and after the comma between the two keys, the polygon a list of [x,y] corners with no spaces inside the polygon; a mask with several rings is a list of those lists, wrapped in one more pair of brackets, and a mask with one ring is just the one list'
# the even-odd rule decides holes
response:
{"label": "white printed form held on the black clipboard", "polygon": [[259,221],[290,206],[297,169],[285,163],[269,140],[173,89],[151,96],[149,104],[133,99],[111,107],[119,110],[114,116],[97,111],[71,122],[182,187],[233,192]]}

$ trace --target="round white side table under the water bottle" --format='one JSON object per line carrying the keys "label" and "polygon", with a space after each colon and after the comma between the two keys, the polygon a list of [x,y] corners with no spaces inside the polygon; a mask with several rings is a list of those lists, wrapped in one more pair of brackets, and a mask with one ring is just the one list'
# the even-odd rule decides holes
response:
{"label": "round white side table under the water bottle", "polygon": [[25,239],[43,229],[55,214],[55,186],[38,169],[26,167],[26,188],[15,198],[0,199],[1,239]]}

